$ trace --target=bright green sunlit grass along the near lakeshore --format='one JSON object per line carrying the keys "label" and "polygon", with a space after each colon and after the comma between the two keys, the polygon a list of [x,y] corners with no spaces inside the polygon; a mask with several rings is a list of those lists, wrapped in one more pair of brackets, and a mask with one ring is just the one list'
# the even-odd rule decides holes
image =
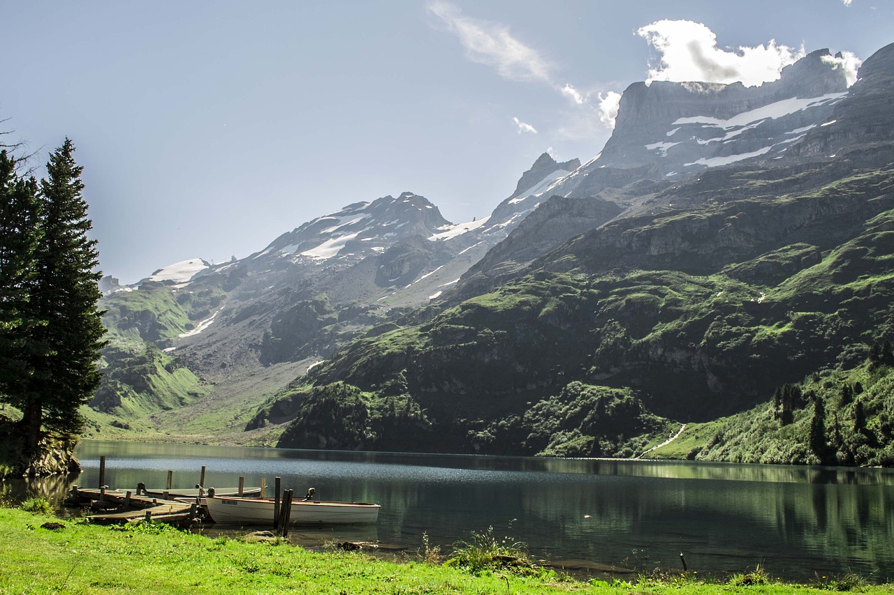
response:
{"label": "bright green sunlit grass along the near lakeshore", "polygon": [[[552,572],[471,574],[424,561],[393,563],[362,553],[309,552],[286,543],[208,539],[164,525],[107,527],[0,507],[0,594],[13,593],[828,593],[782,584],[765,574],[737,575],[738,584],[696,575],[641,577],[640,582],[571,581]],[[755,584],[751,584],[751,583]],[[851,584],[855,591],[894,594],[891,585]]]}

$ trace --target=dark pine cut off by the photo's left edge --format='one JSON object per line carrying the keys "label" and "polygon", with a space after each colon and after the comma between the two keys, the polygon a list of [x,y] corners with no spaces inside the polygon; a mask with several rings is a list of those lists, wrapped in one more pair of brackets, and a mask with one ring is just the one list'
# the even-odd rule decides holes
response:
{"label": "dark pine cut off by the photo's left edge", "polygon": [[30,310],[38,247],[38,182],[16,174],[17,160],[0,151],[0,401],[20,407],[40,346]]}

